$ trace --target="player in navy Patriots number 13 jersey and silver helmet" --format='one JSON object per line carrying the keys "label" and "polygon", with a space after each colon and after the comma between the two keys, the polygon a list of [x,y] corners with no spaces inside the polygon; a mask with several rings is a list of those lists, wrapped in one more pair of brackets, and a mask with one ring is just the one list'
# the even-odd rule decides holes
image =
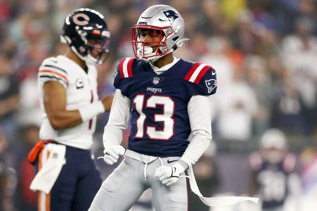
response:
{"label": "player in navy Patriots number 13 jersey and silver helmet", "polygon": [[[147,8],[132,27],[136,58],[123,58],[103,143],[105,162],[124,160],[104,181],[89,211],[127,211],[151,188],[157,211],[187,210],[184,171],[211,141],[211,66],[173,56],[184,41],[184,20],[167,5]],[[130,120],[131,119],[131,120]],[[130,120],[128,149],[120,145]],[[192,133],[193,139],[188,140]]]}

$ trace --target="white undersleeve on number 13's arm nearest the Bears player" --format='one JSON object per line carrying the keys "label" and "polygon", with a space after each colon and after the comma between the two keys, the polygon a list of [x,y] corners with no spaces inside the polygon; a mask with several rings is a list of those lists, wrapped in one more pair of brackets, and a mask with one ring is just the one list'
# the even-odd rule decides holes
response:
{"label": "white undersleeve on number 13's arm nearest the Bears player", "polygon": [[130,119],[131,103],[128,97],[116,89],[110,109],[109,120],[105,126],[103,143],[105,145],[119,145],[123,131],[126,130]]}

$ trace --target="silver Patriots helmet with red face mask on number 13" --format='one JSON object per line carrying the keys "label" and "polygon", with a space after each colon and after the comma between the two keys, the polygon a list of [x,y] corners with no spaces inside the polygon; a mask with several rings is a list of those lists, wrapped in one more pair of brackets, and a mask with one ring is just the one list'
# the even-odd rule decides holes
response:
{"label": "silver Patriots helmet with red face mask on number 13", "polygon": [[[182,39],[184,29],[184,20],[176,9],[163,4],[150,6],[132,27],[132,47],[135,56],[146,62],[157,61],[177,47],[181,47],[184,41],[190,41]],[[153,39],[152,42],[145,42],[141,37],[142,30],[159,33],[159,41]],[[157,43],[157,49],[153,50],[149,43]]]}

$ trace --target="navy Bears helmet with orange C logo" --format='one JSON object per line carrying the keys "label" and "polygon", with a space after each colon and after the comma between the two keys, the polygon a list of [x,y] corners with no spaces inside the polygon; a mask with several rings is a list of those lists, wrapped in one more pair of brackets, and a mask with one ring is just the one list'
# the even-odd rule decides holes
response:
{"label": "navy Bears helmet with orange C logo", "polygon": [[[110,33],[104,16],[89,8],[76,9],[65,18],[60,41],[84,61],[103,64],[109,54]],[[98,56],[91,52],[98,49]]]}

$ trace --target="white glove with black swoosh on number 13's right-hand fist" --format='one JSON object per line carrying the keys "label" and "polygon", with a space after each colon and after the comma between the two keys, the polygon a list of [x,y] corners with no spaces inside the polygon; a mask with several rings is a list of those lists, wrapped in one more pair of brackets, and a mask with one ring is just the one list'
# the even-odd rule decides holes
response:
{"label": "white glove with black swoosh on number 13's right-hand fist", "polygon": [[166,186],[175,184],[182,172],[185,169],[179,164],[175,163],[173,166],[161,166],[155,170],[154,177],[159,177],[159,181]]}

